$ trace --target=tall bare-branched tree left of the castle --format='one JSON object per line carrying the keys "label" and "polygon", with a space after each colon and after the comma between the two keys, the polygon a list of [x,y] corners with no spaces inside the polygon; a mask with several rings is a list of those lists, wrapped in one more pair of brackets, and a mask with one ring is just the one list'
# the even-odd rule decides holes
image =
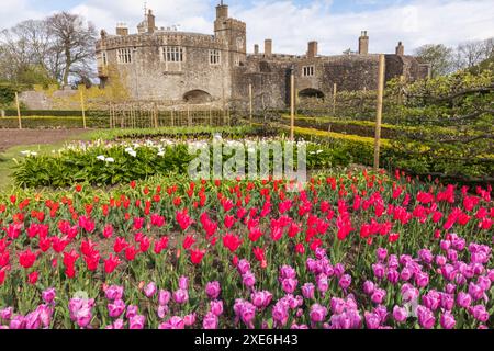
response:
{"label": "tall bare-branched tree left of the castle", "polygon": [[88,76],[92,70],[97,31],[77,14],[61,12],[46,19],[48,33],[54,37],[56,61],[63,69],[61,82],[68,84],[70,75]]}

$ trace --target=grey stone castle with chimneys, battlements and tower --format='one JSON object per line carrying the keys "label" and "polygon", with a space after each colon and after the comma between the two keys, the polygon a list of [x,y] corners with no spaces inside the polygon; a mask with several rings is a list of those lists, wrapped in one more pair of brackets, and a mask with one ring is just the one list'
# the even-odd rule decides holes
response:
{"label": "grey stone castle with chimneys, battlements and tower", "polygon": [[[317,42],[310,42],[304,55],[273,53],[271,39],[263,52],[255,45],[247,53],[246,23],[228,15],[228,5],[216,7],[214,35],[158,29],[149,10],[130,34],[123,24],[116,34],[101,31],[97,43],[101,86],[112,82],[109,67],[115,67],[133,100],[167,101],[175,104],[234,104],[248,101],[252,89],[257,109],[284,109],[290,104],[290,75],[295,75],[299,98],[330,97],[338,91],[374,90],[378,87],[379,55],[369,53],[369,36],[362,32],[358,53],[322,56]],[[385,55],[385,79],[404,76],[408,81],[425,78],[429,66],[404,54]]]}

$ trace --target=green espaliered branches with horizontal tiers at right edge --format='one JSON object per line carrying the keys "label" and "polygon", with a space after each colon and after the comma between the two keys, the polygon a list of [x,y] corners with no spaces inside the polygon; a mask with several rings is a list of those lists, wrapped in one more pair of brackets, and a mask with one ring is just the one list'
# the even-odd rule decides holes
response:
{"label": "green espaliered branches with horizontal tiers at right edge", "polygon": [[460,71],[406,87],[396,166],[416,173],[491,180],[494,174],[494,72]]}

